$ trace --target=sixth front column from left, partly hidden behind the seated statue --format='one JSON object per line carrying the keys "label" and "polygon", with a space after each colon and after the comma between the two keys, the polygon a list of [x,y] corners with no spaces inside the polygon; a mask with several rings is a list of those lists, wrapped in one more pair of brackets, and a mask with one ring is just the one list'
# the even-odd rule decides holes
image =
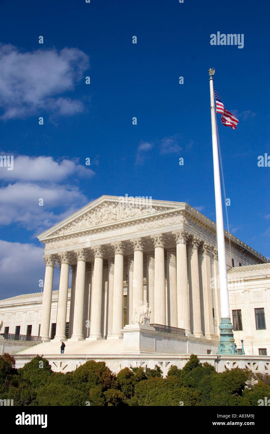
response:
{"label": "sixth front column from left, partly hidden behind the seated statue", "polygon": [[[133,266],[133,309],[140,306],[140,301],[143,301],[143,247],[144,240],[142,238],[134,238],[130,240],[134,250],[134,266]],[[134,312],[131,313],[133,315]]]}

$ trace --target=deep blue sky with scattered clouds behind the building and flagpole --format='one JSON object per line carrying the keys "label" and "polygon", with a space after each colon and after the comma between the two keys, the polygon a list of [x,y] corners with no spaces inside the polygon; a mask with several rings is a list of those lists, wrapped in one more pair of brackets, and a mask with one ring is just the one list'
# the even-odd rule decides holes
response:
{"label": "deep blue sky with scattered clouds behind the building and flagpole", "polygon": [[[210,67],[239,119],[231,130],[217,115],[230,230],[270,257],[270,168],[257,166],[270,155],[269,12],[241,0],[0,3],[0,155],[14,155],[13,171],[0,168],[0,298],[40,291],[36,235],[103,194],[187,202],[215,220]],[[244,48],[211,46],[218,31],[244,34]]]}

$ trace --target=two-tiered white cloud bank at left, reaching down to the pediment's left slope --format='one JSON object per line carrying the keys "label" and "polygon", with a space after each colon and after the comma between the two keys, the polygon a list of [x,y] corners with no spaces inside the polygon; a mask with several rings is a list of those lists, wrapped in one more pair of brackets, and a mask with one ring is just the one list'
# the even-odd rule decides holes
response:
{"label": "two-tiered white cloud bank at left, reaching down to the pediment's left slope", "polygon": [[7,181],[0,188],[2,226],[17,223],[38,234],[89,202],[71,180],[91,178],[94,171],[78,164],[78,159],[19,155],[13,166],[10,171],[0,170],[0,177]]}

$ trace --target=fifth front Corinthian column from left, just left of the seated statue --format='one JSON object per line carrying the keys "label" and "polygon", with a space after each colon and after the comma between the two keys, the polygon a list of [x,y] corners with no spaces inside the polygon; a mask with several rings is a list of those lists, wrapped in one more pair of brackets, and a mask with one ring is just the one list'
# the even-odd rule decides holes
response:
{"label": "fifth front Corinthian column from left, just left of the seated statue", "polygon": [[123,273],[124,273],[124,243],[112,243],[114,248],[114,290],[113,290],[113,329],[111,338],[121,339],[123,333]]}

